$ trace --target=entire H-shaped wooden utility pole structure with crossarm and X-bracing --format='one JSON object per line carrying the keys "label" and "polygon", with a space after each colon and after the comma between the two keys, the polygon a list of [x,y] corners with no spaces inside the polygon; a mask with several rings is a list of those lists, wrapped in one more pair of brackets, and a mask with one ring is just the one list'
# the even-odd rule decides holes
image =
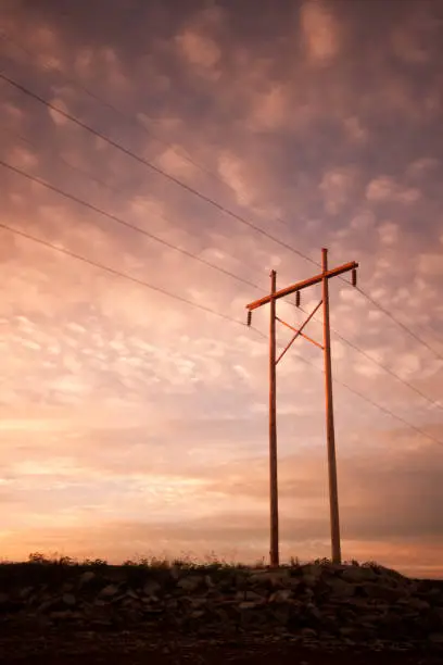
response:
{"label": "entire H-shaped wooden utility pole structure with crossarm and X-bracing", "polygon": [[[276,272],[270,273],[270,293],[251,302],[248,309],[248,325],[251,325],[252,312],[264,304],[270,304],[270,325],[269,325],[269,493],[270,493],[270,565],[279,565],[279,531],[278,531],[278,475],[277,475],[277,391],[276,391],[276,367],[283,357],[288,349],[298,337],[303,337],[311,343],[319,347],[324,351],[325,357],[325,389],[326,389],[326,435],[328,444],[328,476],[329,476],[329,509],[331,526],[331,549],[333,563],[341,563],[340,547],[340,520],[339,520],[339,493],[337,482],[337,460],[336,460],[336,436],[333,425],[333,403],[332,403],[332,368],[331,368],[331,336],[329,325],[329,279],[338,277],[343,273],[352,272],[352,286],[357,284],[358,263],[352,261],[336,268],[328,269],[328,250],[321,250],[321,273],[293,284],[284,289],[276,290]],[[284,298],[291,293],[296,294],[296,305],[300,306],[301,291],[315,284],[321,284],[322,298],[316,308],[311,312],[305,322],[295,328],[276,315],[276,303],[279,298]],[[324,343],[315,341],[303,332],[317,310],[322,304],[324,311]],[[290,342],[276,360],[276,321],[293,330],[294,335]]]}

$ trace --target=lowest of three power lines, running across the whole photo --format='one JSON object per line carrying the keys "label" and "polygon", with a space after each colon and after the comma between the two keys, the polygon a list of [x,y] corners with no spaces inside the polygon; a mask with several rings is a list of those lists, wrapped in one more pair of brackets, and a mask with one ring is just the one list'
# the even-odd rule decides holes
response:
{"label": "lowest of three power lines, running across the whole photo", "polygon": [[[21,229],[14,228],[12,226],[9,226],[8,224],[4,224],[2,222],[0,222],[0,228],[3,228],[4,230],[8,230],[14,235],[21,236],[22,238],[26,238],[27,240],[30,240],[33,242],[36,242],[38,244],[41,244],[48,249],[52,249],[55,252],[59,252],[61,254],[65,254],[67,256],[71,256],[72,259],[76,259],[77,261],[81,261],[83,263],[86,263],[88,265],[91,265],[93,267],[97,267],[101,271],[104,271],[105,273],[109,273],[113,276],[116,277],[122,277],[123,279],[127,279],[128,281],[131,281],[134,284],[137,284],[138,286],[142,286],[144,288],[148,288],[152,291],[155,291],[157,293],[162,293],[163,296],[167,296],[168,298],[173,298],[174,300],[177,300],[179,302],[182,302],[185,304],[188,304],[192,308],[195,308],[198,310],[201,310],[203,312],[206,312],[207,314],[213,314],[214,316],[218,316],[220,318],[224,318],[225,321],[229,321],[230,323],[235,323],[237,325],[242,326],[243,328],[248,327],[246,324],[244,324],[243,322],[233,318],[227,314],[221,314],[220,312],[217,312],[216,310],[213,310],[211,308],[206,308],[205,305],[199,304],[197,302],[193,302],[192,300],[188,300],[187,298],[183,298],[182,296],[177,296],[176,293],[172,293],[170,291],[167,291],[166,289],[163,289],[161,287],[156,287],[152,284],[149,284],[148,281],[144,281],[143,279],[139,279],[137,277],[132,277],[131,275],[127,275],[126,273],[123,273],[122,271],[117,271],[113,267],[110,267],[107,265],[104,265],[102,263],[99,263],[97,261],[92,261],[91,259],[88,259],[81,254],[78,254],[76,252],[73,252],[68,249],[62,248],[62,247],[58,247],[56,244],[53,244],[52,242],[50,242],[49,240],[45,240],[42,238],[37,238],[36,236],[33,236],[31,234],[27,234],[26,231],[23,231]],[[252,326],[251,326],[252,327]],[[261,335],[262,337],[266,338],[267,336],[262,332],[261,330],[258,330],[257,328],[252,327],[252,329],[257,332],[258,335]],[[295,356],[303,361],[305,364],[311,365],[313,367],[315,367],[316,369],[319,369],[313,362],[308,361],[307,359],[299,355],[298,353],[295,353]],[[321,369],[320,369],[321,372]],[[432,441],[434,441],[435,443],[443,446],[443,442],[440,441],[439,439],[436,439],[435,437],[432,437],[431,435],[428,435],[427,432],[425,432],[423,430],[421,430],[420,428],[416,427],[415,425],[412,425],[410,423],[408,423],[407,421],[405,421],[404,418],[402,418],[401,416],[397,416],[396,414],[394,414],[392,411],[385,409],[384,406],[381,406],[380,404],[378,404],[377,402],[372,401],[370,398],[367,398],[366,396],[364,396],[363,393],[358,392],[357,390],[351,388],[347,384],[344,384],[343,381],[340,381],[338,379],[333,379],[334,382],[343,386],[344,388],[346,388],[347,390],[350,390],[351,392],[353,392],[354,394],[356,394],[357,397],[359,397],[360,399],[365,400],[366,402],[368,402],[369,404],[371,404],[372,406],[376,406],[377,409],[380,409],[381,411],[383,411],[384,413],[391,415],[393,418],[396,418],[397,421],[402,422],[404,425],[410,427],[412,429],[414,429],[415,431],[417,431],[418,434],[427,437],[428,439],[431,439]]]}

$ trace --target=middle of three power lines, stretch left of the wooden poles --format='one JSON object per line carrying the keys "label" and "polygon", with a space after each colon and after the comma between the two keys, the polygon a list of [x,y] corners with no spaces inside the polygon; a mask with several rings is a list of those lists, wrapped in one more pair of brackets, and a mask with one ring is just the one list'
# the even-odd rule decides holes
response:
{"label": "middle of three power lines, stretch left of the wooden poles", "polygon": [[233,279],[237,279],[238,281],[242,281],[243,284],[250,287],[253,287],[255,289],[258,288],[257,285],[254,285],[252,281],[249,281],[248,279],[243,279],[243,277],[239,277],[238,275],[235,275],[233,273],[223,267],[219,267],[218,265],[215,265],[211,263],[210,261],[206,261],[205,259],[202,259],[201,256],[198,256],[197,254],[189,252],[188,250],[181,249],[178,246],[172,242],[168,242],[167,240],[163,240],[162,238],[154,236],[150,231],[147,231],[143,228],[140,228],[139,226],[136,226],[134,224],[130,224],[130,222],[127,222],[126,219],[123,219],[122,217],[117,217],[116,215],[112,213],[107,213],[101,208],[98,208],[97,205],[93,205],[92,203],[89,203],[88,201],[85,201],[84,199],[80,199],[79,197],[76,197],[75,195],[64,191],[63,189],[60,189],[59,187],[55,187],[54,185],[51,185],[50,183],[47,183],[46,180],[42,180],[41,178],[38,178],[37,176],[33,176],[29,173],[26,173],[25,171],[22,171],[21,168],[13,166],[12,164],[8,164],[7,162],[3,162],[3,160],[0,160],[0,165],[3,166],[4,168],[9,168],[10,171],[23,176],[24,178],[27,178],[28,180],[31,180],[33,183],[37,183],[38,185],[41,185],[42,187],[46,187],[47,189],[56,192],[58,195],[64,197],[65,199],[69,199],[71,201],[75,201],[76,203],[79,203],[80,205],[84,205],[85,208],[92,210],[99,215],[107,217],[109,219],[112,219],[113,222],[116,222],[117,224],[121,224],[122,226],[125,226],[127,228],[130,228],[131,230],[135,230],[141,234],[142,236],[150,238],[151,240],[155,240],[156,242],[160,242],[161,244],[164,244],[165,247],[169,249],[173,249],[177,252],[180,252],[181,254],[185,254],[186,256],[189,256],[190,259],[193,259],[194,261],[199,261],[200,263],[203,263],[204,265],[207,265],[208,267],[219,271],[220,273],[223,273],[224,275],[227,275],[228,277],[232,277]]}

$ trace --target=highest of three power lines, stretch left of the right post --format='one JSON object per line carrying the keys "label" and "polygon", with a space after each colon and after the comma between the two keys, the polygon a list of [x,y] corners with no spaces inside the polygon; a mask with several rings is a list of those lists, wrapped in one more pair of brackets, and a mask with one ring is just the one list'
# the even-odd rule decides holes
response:
{"label": "highest of three power lines, stretch left of the right post", "polygon": [[77,117],[75,117],[71,113],[66,113],[62,109],[59,109],[58,106],[55,106],[54,104],[49,102],[47,99],[40,97],[39,95],[36,95],[35,92],[33,92],[31,90],[29,90],[25,86],[16,83],[12,78],[9,78],[8,76],[5,76],[5,74],[0,73],[0,78],[2,80],[7,81],[8,84],[10,84],[12,87],[16,88],[17,90],[21,90],[21,92],[23,92],[24,95],[27,95],[28,97],[35,99],[36,101],[40,102],[41,104],[45,104],[48,109],[51,109],[52,111],[55,111],[55,113],[59,113],[60,115],[62,115],[66,120],[71,121],[72,123],[74,123],[78,127],[81,127],[86,131],[89,131],[93,136],[97,136],[98,138],[102,139],[103,141],[105,141],[106,143],[109,143],[110,146],[115,148],[116,150],[123,152],[124,154],[127,154],[128,156],[130,156],[135,161],[139,162],[140,164],[143,164],[144,166],[148,166],[148,168],[150,168],[151,171],[153,171],[157,175],[163,176],[167,180],[174,183],[175,185],[177,185],[178,187],[180,187],[185,191],[188,191],[189,193],[194,195],[195,197],[198,197],[199,199],[201,199],[205,203],[210,203],[211,205],[216,208],[219,212],[223,212],[224,214],[228,215],[232,219],[236,219],[237,222],[240,222],[241,224],[244,224],[245,226],[254,229],[255,231],[257,231],[258,234],[261,234],[265,238],[268,238],[269,240],[273,240],[273,242],[276,242],[277,244],[280,244],[284,249],[293,252],[294,254],[298,254],[299,256],[301,256],[305,261],[308,261],[309,263],[316,263],[313,259],[311,259],[309,256],[307,256],[303,252],[296,250],[291,244],[288,244],[283,240],[279,240],[278,238],[276,238],[271,234],[268,234],[263,228],[260,228],[258,226],[256,226],[255,224],[253,224],[252,222],[250,222],[249,219],[246,219],[242,215],[239,215],[239,214],[235,213],[233,211],[231,211],[226,205],[223,205],[221,203],[218,203],[218,201],[215,201],[211,197],[207,197],[206,195],[202,193],[200,190],[195,189],[194,187],[191,187],[190,185],[187,185],[186,183],[183,183],[179,178],[177,178],[177,177],[166,173],[165,171],[163,171],[159,166],[155,166],[155,164],[153,164],[149,160],[145,160],[144,158],[136,154],[135,152],[132,152],[131,150],[128,150],[127,148],[125,148],[124,146],[118,143],[117,141],[114,141],[113,139],[109,138],[106,135],[102,134],[101,131],[98,131],[97,129],[94,129],[93,127],[90,127],[89,125],[87,125],[83,121],[79,121]]}

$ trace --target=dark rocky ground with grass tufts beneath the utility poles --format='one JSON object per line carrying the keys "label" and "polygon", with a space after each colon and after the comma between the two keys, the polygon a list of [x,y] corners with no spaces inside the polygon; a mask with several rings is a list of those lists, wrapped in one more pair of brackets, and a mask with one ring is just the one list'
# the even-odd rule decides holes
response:
{"label": "dark rocky ground with grass tufts beneath the utility poles", "polygon": [[332,564],[0,566],[0,662],[110,660],[441,663],[443,581]]}

